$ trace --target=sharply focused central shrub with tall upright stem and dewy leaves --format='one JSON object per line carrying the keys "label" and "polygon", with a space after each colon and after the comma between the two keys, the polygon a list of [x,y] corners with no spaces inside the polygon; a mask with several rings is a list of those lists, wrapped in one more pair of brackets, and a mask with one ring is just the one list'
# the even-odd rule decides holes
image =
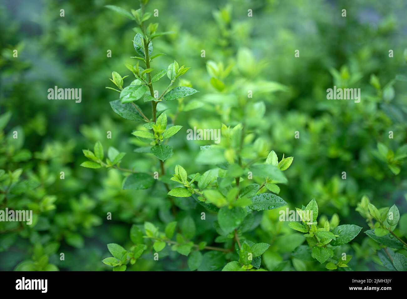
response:
{"label": "sharply focused central shrub with tall upright stem and dewy leaves", "polygon": [[[287,178],[282,171],[289,168],[293,162],[293,157],[284,158],[283,155],[282,159],[278,161],[276,153],[271,151],[263,164],[254,164],[264,154],[258,151],[259,144],[252,142],[253,133],[245,134],[242,124],[237,124],[233,128],[223,124],[220,144],[201,146],[201,152],[197,156],[197,162],[215,164],[218,167],[209,169],[202,175],[200,173],[188,175],[181,165],[176,165],[173,177],[170,180],[165,177],[164,161],[173,152],[173,148],[165,143],[182,127],[174,124],[167,127],[165,112],[156,117],[157,104],[162,100],[171,101],[184,98],[197,93],[197,91],[186,86],[169,90],[175,80],[184,75],[189,69],[185,68],[184,65],[179,67],[176,61],[169,65],[168,69],[163,69],[151,76],[153,74],[151,61],[159,56],[158,54],[151,56],[153,51],[152,40],[162,34],[155,33],[158,24],[149,24],[149,26],[145,24],[145,21],[150,17],[149,13],[144,13],[146,3],[147,1],[142,1],[141,8],[137,11],[132,10],[131,15],[118,7],[108,6],[110,9],[136,20],[140,32],[134,37],[133,45],[139,56],[133,58],[142,61],[146,67],[143,69],[139,66],[139,63],[134,66],[126,65],[136,77],[136,80],[125,88],[123,88],[123,79],[127,76],[121,77],[116,72],[112,73],[112,79],[110,80],[118,88],[114,90],[120,92],[120,100],[110,102],[110,104],[114,112],[121,117],[132,121],[143,120],[146,122],[143,125],[144,129],[136,130],[132,134],[145,144],[137,152],[148,152],[159,159],[160,176],[155,171],[150,173],[138,172],[120,167],[120,161],[125,156],[125,153],[119,152],[114,147],[109,147],[104,162],[104,151],[100,142],[96,142],[93,152],[83,150],[89,161],[82,163],[81,166],[88,168],[112,167],[130,173],[123,182],[123,189],[155,188],[160,191],[160,183],[163,184],[168,192],[168,200],[172,203],[173,216],[178,221],[167,223],[164,232],[148,221],[144,223],[144,229],[133,225],[130,237],[134,244],[130,249],[126,250],[114,243],[109,244],[108,249],[113,257],[105,258],[103,262],[113,266],[114,271],[124,271],[127,268],[126,264],[134,264],[143,251],[154,249],[158,253],[166,245],[169,245],[172,251],[189,256],[188,266],[191,270],[202,268],[219,269],[225,266],[227,260],[232,260],[232,262],[226,264],[224,270],[249,270],[253,267],[259,269],[260,256],[267,250],[269,244],[255,243],[246,239],[244,232],[255,228],[253,226],[253,213],[255,211],[271,210],[287,204],[281,197],[273,193],[262,192],[262,190],[267,188],[273,192],[279,192],[277,184],[287,183]],[[171,82],[158,98],[154,98],[153,83],[165,75]],[[211,82],[213,84],[213,80]],[[141,99],[143,102],[151,102],[151,119],[147,118],[142,109],[134,103]],[[182,102],[179,102],[179,104],[182,104]],[[173,117],[173,123],[174,121],[175,116]],[[256,152],[260,156],[253,155]],[[255,181],[262,182],[262,184],[250,183],[253,178]],[[160,183],[155,183],[155,180]],[[173,186],[174,182],[181,184],[182,187],[179,185]],[[188,197],[189,202],[192,201],[195,206],[198,203],[206,208],[208,212],[217,213],[217,221],[214,221],[214,226],[219,236],[216,238],[216,242],[224,243],[223,247],[207,246],[207,241],[201,241],[198,244],[191,241],[195,236],[196,220],[190,215],[183,215],[182,217],[177,215],[176,199],[174,197]],[[181,203],[178,203],[178,206],[179,204]],[[191,204],[183,203],[182,205]],[[206,212],[202,212],[200,218],[206,220]],[[177,233],[175,234],[175,232]],[[174,234],[175,241],[172,240]],[[143,238],[147,238],[147,240],[144,241]],[[151,239],[151,241],[148,241],[148,239]],[[213,243],[213,240],[210,243]],[[201,250],[208,250],[208,252],[201,254]]]}

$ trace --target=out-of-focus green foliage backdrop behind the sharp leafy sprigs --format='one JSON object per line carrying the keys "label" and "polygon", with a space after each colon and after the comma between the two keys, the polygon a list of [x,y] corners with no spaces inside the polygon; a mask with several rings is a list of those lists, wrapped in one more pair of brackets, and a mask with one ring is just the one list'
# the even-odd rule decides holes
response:
{"label": "out-of-focus green foliage backdrop behind the sharp leafy sprigs", "polygon": [[[407,169],[397,159],[407,153],[407,2],[150,2],[147,9],[159,11],[152,17],[160,23],[159,30],[175,32],[154,41],[155,53],[167,55],[156,58],[153,67],[166,69],[176,59],[191,67],[183,79],[200,91],[194,96],[199,102],[194,110],[177,113],[175,101],[159,104],[172,117],[177,114],[183,126],[171,144],[169,171],[176,164],[188,173],[207,170],[194,163],[197,145],[207,142],[188,143],[187,128],[233,126],[245,118],[260,136],[258,152],[272,149],[279,157],[294,157],[286,172],[289,184],[280,192],[290,208],[315,198],[320,214],[337,213],[341,224],[357,224],[362,231],[367,225],[355,212],[362,195],[378,207],[397,204],[401,214],[407,211]],[[109,256],[107,243],[129,242],[132,223],[165,222],[170,217],[168,203],[154,193],[122,190],[118,171],[79,166],[85,160],[82,149],[101,141],[105,148],[126,152],[123,164],[129,168],[155,167],[133,152],[138,144],[130,133],[137,125],[120,119],[109,106],[117,98],[105,89],[113,87],[108,80],[112,71],[130,74],[125,63],[134,61],[129,57],[135,54],[135,24],[106,9],[107,4],[128,10],[138,6],[135,1],[107,0],[0,3],[0,115],[11,112],[7,125],[0,126],[0,169],[22,169],[22,176],[40,183],[15,201],[15,208],[36,205],[35,227],[0,223],[0,270],[13,270],[25,260],[60,270],[107,270],[101,262]],[[248,9],[253,17],[247,16]],[[15,49],[18,57],[13,57]],[[295,50],[300,57],[294,56]],[[230,73],[222,76],[228,67]],[[214,76],[224,89],[211,85]],[[55,85],[81,88],[82,102],[48,100],[48,89]],[[327,100],[326,89],[333,85],[360,88],[361,102]],[[161,94],[165,86],[158,83],[155,88]],[[253,98],[242,108],[239,103],[247,99],[247,90],[253,91]],[[140,106],[150,117],[150,104]],[[18,142],[10,139],[15,128],[20,129]],[[112,139],[106,138],[107,131]],[[300,139],[294,139],[295,131]],[[385,145],[384,155],[378,143]],[[60,171],[65,180],[59,179]],[[342,171],[346,180],[341,179]],[[112,220],[106,220],[107,212],[112,212]],[[276,254],[264,257],[265,269],[271,270],[276,262],[290,259],[294,248],[282,248],[284,239],[278,240],[292,232],[278,228],[278,211],[262,217],[253,234],[274,240]],[[397,233],[407,236],[407,225]],[[216,236],[210,228],[197,228],[197,234],[207,240]],[[353,269],[384,269],[375,254],[377,245],[364,234],[348,246]],[[59,260],[61,252],[65,261]],[[44,255],[47,261],[40,260]],[[183,260],[155,264],[145,258],[131,269],[184,268]],[[294,264],[284,269],[298,270]]]}

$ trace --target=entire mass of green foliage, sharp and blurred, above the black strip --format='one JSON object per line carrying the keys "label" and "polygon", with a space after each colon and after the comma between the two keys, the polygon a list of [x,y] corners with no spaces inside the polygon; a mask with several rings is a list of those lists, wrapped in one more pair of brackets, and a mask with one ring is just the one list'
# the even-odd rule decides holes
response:
{"label": "entire mass of green foliage, sharp and blurred, above the black strip", "polygon": [[188,4],[0,4],[0,269],[404,271],[405,3]]}

